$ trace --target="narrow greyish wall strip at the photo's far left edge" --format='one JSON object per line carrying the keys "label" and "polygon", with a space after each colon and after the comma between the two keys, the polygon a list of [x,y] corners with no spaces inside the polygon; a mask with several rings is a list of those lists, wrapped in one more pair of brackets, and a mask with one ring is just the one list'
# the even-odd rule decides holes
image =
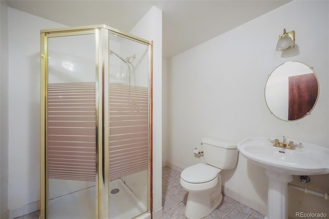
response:
{"label": "narrow greyish wall strip at the photo's far left edge", "polygon": [[0,218],[8,210],[8,6],[0,1]]}

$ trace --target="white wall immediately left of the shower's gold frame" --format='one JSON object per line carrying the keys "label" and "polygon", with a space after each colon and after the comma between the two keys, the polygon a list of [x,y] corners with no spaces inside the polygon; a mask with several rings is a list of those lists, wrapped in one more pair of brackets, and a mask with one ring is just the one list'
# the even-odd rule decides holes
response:
{"label": "white wall immediately left of the shower's gold frame", "polygon": [[65,26],[12,8],[8,14],[8,209],[12,210],[39,200],[40,30]]}

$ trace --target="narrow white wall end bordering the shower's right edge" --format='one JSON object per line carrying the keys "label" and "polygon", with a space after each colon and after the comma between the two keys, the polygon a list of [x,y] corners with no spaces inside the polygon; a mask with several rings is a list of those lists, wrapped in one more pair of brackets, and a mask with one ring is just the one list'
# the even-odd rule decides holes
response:
{"label": "narrow white wall end bordering the shower's right edge", "polygon": [[153,218],[162,216],[162,11],[152,7],[130,32],[153,41]]}

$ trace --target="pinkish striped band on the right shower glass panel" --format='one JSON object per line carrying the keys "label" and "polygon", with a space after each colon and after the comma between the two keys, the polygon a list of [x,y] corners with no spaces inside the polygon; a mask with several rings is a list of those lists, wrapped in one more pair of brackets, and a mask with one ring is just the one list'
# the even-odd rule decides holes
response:
{"label": "pinkish striped band on the right shower glass panel", "polygon": [[148,169],[147,87],[109,84],[109,180]]}

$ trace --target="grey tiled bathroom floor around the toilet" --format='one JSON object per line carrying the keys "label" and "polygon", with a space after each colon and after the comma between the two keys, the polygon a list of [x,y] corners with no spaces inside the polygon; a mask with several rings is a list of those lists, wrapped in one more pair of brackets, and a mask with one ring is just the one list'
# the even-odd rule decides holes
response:
{"label": "grey tiled bathroom floor around the toilet", "polygon": [[[162,168],[162,219],[186,219],[187,191],[179,183],[180,172],[169,167]],[[223,202],[204,219],[263,219],[264,215],[229,196],[223,195]]]}

